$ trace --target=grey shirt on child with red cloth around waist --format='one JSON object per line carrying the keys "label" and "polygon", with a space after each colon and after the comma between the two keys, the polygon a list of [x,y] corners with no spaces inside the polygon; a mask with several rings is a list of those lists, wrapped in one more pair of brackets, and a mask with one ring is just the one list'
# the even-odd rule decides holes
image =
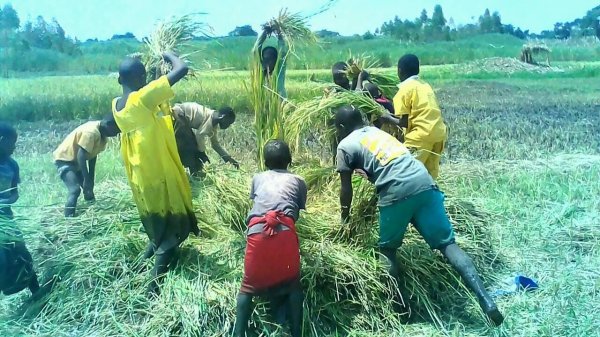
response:
{"label": "grey shirt on child with red cloth around waist", "polygon": [[254,205],[248,221],[268,211],[281,211],[297,221],[300,210],[306,208],[306,193],[304,179],[286,170],[259,173],[252,179],[250,199]]}

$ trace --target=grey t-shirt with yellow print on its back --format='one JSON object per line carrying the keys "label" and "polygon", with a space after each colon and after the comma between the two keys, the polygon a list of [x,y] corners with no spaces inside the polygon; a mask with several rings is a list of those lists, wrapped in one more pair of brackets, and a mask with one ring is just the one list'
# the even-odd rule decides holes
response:
{"label": "grey t-shirt with yellow print on its back", "polygon": [[338,145],[337,171],[356,169],[375,184],[380,207],[435,186],[425,166],[402,143],[372,126],[355,130]]}

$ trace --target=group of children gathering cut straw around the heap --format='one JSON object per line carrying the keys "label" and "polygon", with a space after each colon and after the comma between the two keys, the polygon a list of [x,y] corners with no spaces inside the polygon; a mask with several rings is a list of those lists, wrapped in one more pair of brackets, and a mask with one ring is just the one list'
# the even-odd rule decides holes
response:
{"label": "group of children gathering cut straw around the heap", "polygon": [[[285,59],[281,58],[285,58],[285,49],[278,53],[268,49],[272,47],[262,48],[271,33],[265,30],[255,51],[265,67],[265,76],[279,71],[278,81],[283,82]],[[216,137],[217,129],[227,129],[235,121],[233,110],[224,107],[214,111],[197,103],[181,103],[171,108],[168,101],[174,96],[172,87],[187,74],[188,68],[172,53],[165,53],[164,59],[172,65],[172,70],[150,83],[146,82],[146,69],[140,60],[124,60],[119,67],[123,94],[114,99],[112,114],[102,121],[78,127],[54,151],[59,176],[68,190],[65,215],[74,216],[81,191],[86,200],[94,199],[98,153],[105,149],[108,137],[121,134],[125,171],[149,238],[144,256],[155,257],[148,286],[148,293],[153,295],[159,294],[160,276],[174,261],[179,245],[190,233],[199,234],[184,167],[191,173],[202,169],[208,161],[206,138],[225,162],[238,166]],[[412,223],[427,244],[439,250],[462,276],[490,320],[501,324],[503,317],[471,259],[455,242],[444,208],[444,194],[435,183],[446,126],[433,90],[418,77],[417,57],[406,55],[399,60],[401,83],[393,104],[374,84],[368,83],[367,73],[361,73],[351,82],[346,75],[347,67],[345,63],[336,63],[332,69],[340,90],[366,90],[390,112],[378,121],[378,126],[393,125],[406,131],[403,144],[400,134],[368,126],[364,112],[353,106],[336,111],[334,125],[339,144],[335,153],[341,180],[342,223],[348,224],[350,219],[352,174],[361,172],[375,185],[379,197],[379,251],[389,273],[398,279],[402,277],[396,252],[408,224]],[[285,97],[284,89],[281,94]],[[18,198],[19,170],[10,158],[16,132],[2,124],[0,133],[0,219],[3,228],[8,228],[12,225],[4,223],[12,221],[9,205]],[[255,175],[251,186],[253,207],[247,218],[244,276],[237,296],[234,334],[245,336],[253,311],[252,298],[264,296],[270,300],[277,320],[289,321],[292,336],[300,336],[303,292],[295,223],[300,210],[306,208],[307,187],[301,177],[288,171],[292,156],[285,142],[269,141],[264,147],[264,161],[268,170]],[[20,233],[15,231],[14,237],[0,238],[0,267],[11,272],[16,270],[15,266],[23,270],[8,280],[7,275],[12,274],[2,273],[0,290],[9,294],[29,287],[35,292],[39,288],[37,277]]]}

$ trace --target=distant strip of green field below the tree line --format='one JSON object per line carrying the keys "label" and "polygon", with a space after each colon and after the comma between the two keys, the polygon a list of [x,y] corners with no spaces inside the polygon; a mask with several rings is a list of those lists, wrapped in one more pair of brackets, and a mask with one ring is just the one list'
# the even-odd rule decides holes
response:
{"label": "distant strip of green field below the tree line", "polygon": [[[254,37],[216,38],[209,41],[193,41],[182,52],[192,53],[190,60],[203,70],[247,70],[249,50]],[[551,50],[551,62],[597,61],[600,47],[593,39],[567,41],[543,41]],[[275,41],[267,42],[275,44]],[[402,42],[389,37],[364,40],[361,37],[338,37],[322,39],[318,45],[298,46],[289,60],[290,69],[327,69],[337,61],[347,60],[350,55],[368,54],[383,67],[394,67],[404,53],[419,55],[426,65],[457,64],[488,57],[518,57],[523,44],[511,35],[486,34],[466,37],[457,41]],[[106,74],[117,70],[119,61],[128,54],[138,52],[142,44],[137,40],[113,40],[85,42],[80,46],[81,55],[64,54],[32,49],[14,56],[11,77],[33,74],[90,75]],[[545,58],[539,58],[545,62]]]}

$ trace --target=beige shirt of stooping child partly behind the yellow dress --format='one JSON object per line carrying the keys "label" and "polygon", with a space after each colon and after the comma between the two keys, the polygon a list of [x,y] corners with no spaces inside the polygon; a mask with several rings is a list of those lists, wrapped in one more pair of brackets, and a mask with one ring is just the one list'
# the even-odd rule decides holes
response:
{"label": "beige shirt of stooping child partly behind the yellow dress", "polygon": [[212,142],[218,144],[218,128],[215,128],[212,124],[212,116],[215,110],[194,102],[175,104],[173,110],[180,110],[185,118],[190,121],[190,127],[196,136],[198,151],[206,152],[206,138],[210,138]]}

